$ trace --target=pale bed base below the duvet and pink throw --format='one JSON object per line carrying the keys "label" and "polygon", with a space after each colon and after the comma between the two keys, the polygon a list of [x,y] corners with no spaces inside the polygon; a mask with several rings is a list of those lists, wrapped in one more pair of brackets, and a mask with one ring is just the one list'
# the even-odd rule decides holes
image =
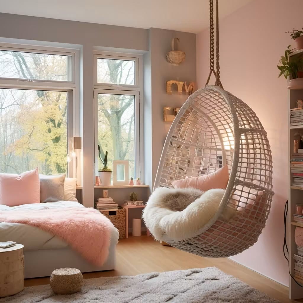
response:
{"label": "pale bed base below the duvet and pink throw", "polygon": [[83,272],[115,269],[116,243],[109,248],[108,258],[103,266],[94,266],[71,248],[39,249],[24,251],[25,278],[49,277],[57,268],[72,267]]}

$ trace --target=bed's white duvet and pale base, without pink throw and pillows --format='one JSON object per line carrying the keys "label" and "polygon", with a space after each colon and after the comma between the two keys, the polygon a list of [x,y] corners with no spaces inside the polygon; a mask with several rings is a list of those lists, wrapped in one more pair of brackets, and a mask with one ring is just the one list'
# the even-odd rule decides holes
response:
{"label": "bed's white duvet and pale base, without pink throw and pillows", "polygon": [[[12,211],[13,215],[14,210],[21,208],[35,211],[46,207],[58,210],[84,206],[74,201],[58,201],[13,207],[0,205],[0,211]],[[102,266],[95,266],[70,248],[67,243],[46,231],[26,224],[0,222],[0,241],[15,241],[24,245],[25,278],[50,276],[54,269],[62,267],[78,268],[81,272],[114,269],[115,247],[118,243],[119,232],[112,226],[110,234],[108,258]]]}

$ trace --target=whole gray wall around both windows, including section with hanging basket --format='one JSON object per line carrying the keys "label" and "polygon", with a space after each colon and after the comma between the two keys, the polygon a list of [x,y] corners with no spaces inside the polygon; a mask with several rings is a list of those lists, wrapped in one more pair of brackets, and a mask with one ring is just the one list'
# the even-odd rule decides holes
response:
{"label": "whole gray wall around both windows, including section with hanging basket", "polygon": [[[181,40],[186,53],[179,66],[168,63],[165,54],[171,38]],[[171,123],[163,122],[163,106],[181,107],[182,95],[166,95],[165,81],[196,81],[196,35],[151,28],[129,28],[95,23],[0,13],[0,40],[23,39],[23,43],[53,46],[75,45],[80,49],[80,136],[83,138],[82,203],[93,206],[94,196],[94,102],[93,50],[143,54],[144,61],[144,149],[145,183],[152,185],[163,143]],[[55,44],[55,45],[54,45]],[[84,76],[85,75],[85,76]],[[150,189],[146,191],[146,199]],[[120,191],[117,190],[117,192]],[[121,192],[122,193],[122,192]],[[79,193],[78,193],[79,194]],[[124,196],[124,194],[123,194]]]}

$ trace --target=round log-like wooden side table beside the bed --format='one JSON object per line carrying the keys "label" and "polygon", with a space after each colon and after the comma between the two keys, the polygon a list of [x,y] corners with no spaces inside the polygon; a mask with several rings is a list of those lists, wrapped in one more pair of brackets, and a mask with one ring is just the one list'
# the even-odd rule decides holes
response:
{"label": "round log-like wooden side table beside the bed", "polygon": [[24,288],[23,245],[0,248],[0,297],[15,295]]}

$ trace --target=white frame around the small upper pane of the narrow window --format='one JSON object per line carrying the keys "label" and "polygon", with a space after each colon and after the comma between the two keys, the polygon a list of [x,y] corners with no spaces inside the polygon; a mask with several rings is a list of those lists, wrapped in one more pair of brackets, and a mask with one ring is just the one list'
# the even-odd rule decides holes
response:
{"label": "white frame around the small upper pane of the narrow window", "polygon": [[[115,84],[115,83],[103,83],[98,82],[98,59],[112,59],[112,60],[125,60],[135,62],[135,84]],[[126,56],[117,56],[117,55],[101,55],[94,54],[94,85],[103,86],[104,88],[109,89],[119,89],[125,88],[128,90],[138,90],[139,88],[139,58],[135,57],[126,57]]]}

